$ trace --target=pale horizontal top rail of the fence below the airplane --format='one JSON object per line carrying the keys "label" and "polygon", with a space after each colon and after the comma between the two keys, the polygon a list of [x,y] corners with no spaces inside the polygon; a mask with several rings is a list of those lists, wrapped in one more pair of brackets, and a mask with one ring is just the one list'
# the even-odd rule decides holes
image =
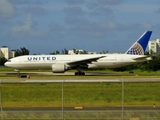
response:
{"label": "pale horizontal top rail of the fence below the airplane", "polygon": [[122,83],[122,82],[160,82],[160,78],[105,78],[105,79],[1,79],[1,83]]}

